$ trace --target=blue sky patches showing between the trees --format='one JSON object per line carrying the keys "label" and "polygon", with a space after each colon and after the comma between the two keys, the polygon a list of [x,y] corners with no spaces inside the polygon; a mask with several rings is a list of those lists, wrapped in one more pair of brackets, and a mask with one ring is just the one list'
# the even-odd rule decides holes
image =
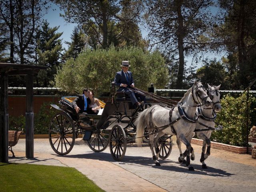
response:
{"label": "blue sky patches showing between the trees", "polygon": [[[72,34],[72,30],[76,26],[76,24],[68,23],[64,20],[64,18],[60,17],[60,13],[64,14],[63,11],[61,11],[56,4],[51,3],[50,8],[48,10],[48,13],[44,15],[44,19],[48,21],[50,27],[56,27],[60,26],[58,29],[58,32],[63,32],[61,38],[62,40],[62,46],[66,50],[68,49],[68,45],[65,44],[64,42],[71,42],[70,36]],[[142,37],[145,38],[147,35],[146,30],[142,27]],[[217,58],[217,61],[224,56],[225,53],[220,53],[220,54],[205,54],[205,58]],[[196,64],[195,61],[192,60],[192,57],[190,56],[185,56],[185,62],[187,65],[187,68],[190,66],[196,66],[196,68],[199,68],[201,66],[200,62],[199,64]]]}

